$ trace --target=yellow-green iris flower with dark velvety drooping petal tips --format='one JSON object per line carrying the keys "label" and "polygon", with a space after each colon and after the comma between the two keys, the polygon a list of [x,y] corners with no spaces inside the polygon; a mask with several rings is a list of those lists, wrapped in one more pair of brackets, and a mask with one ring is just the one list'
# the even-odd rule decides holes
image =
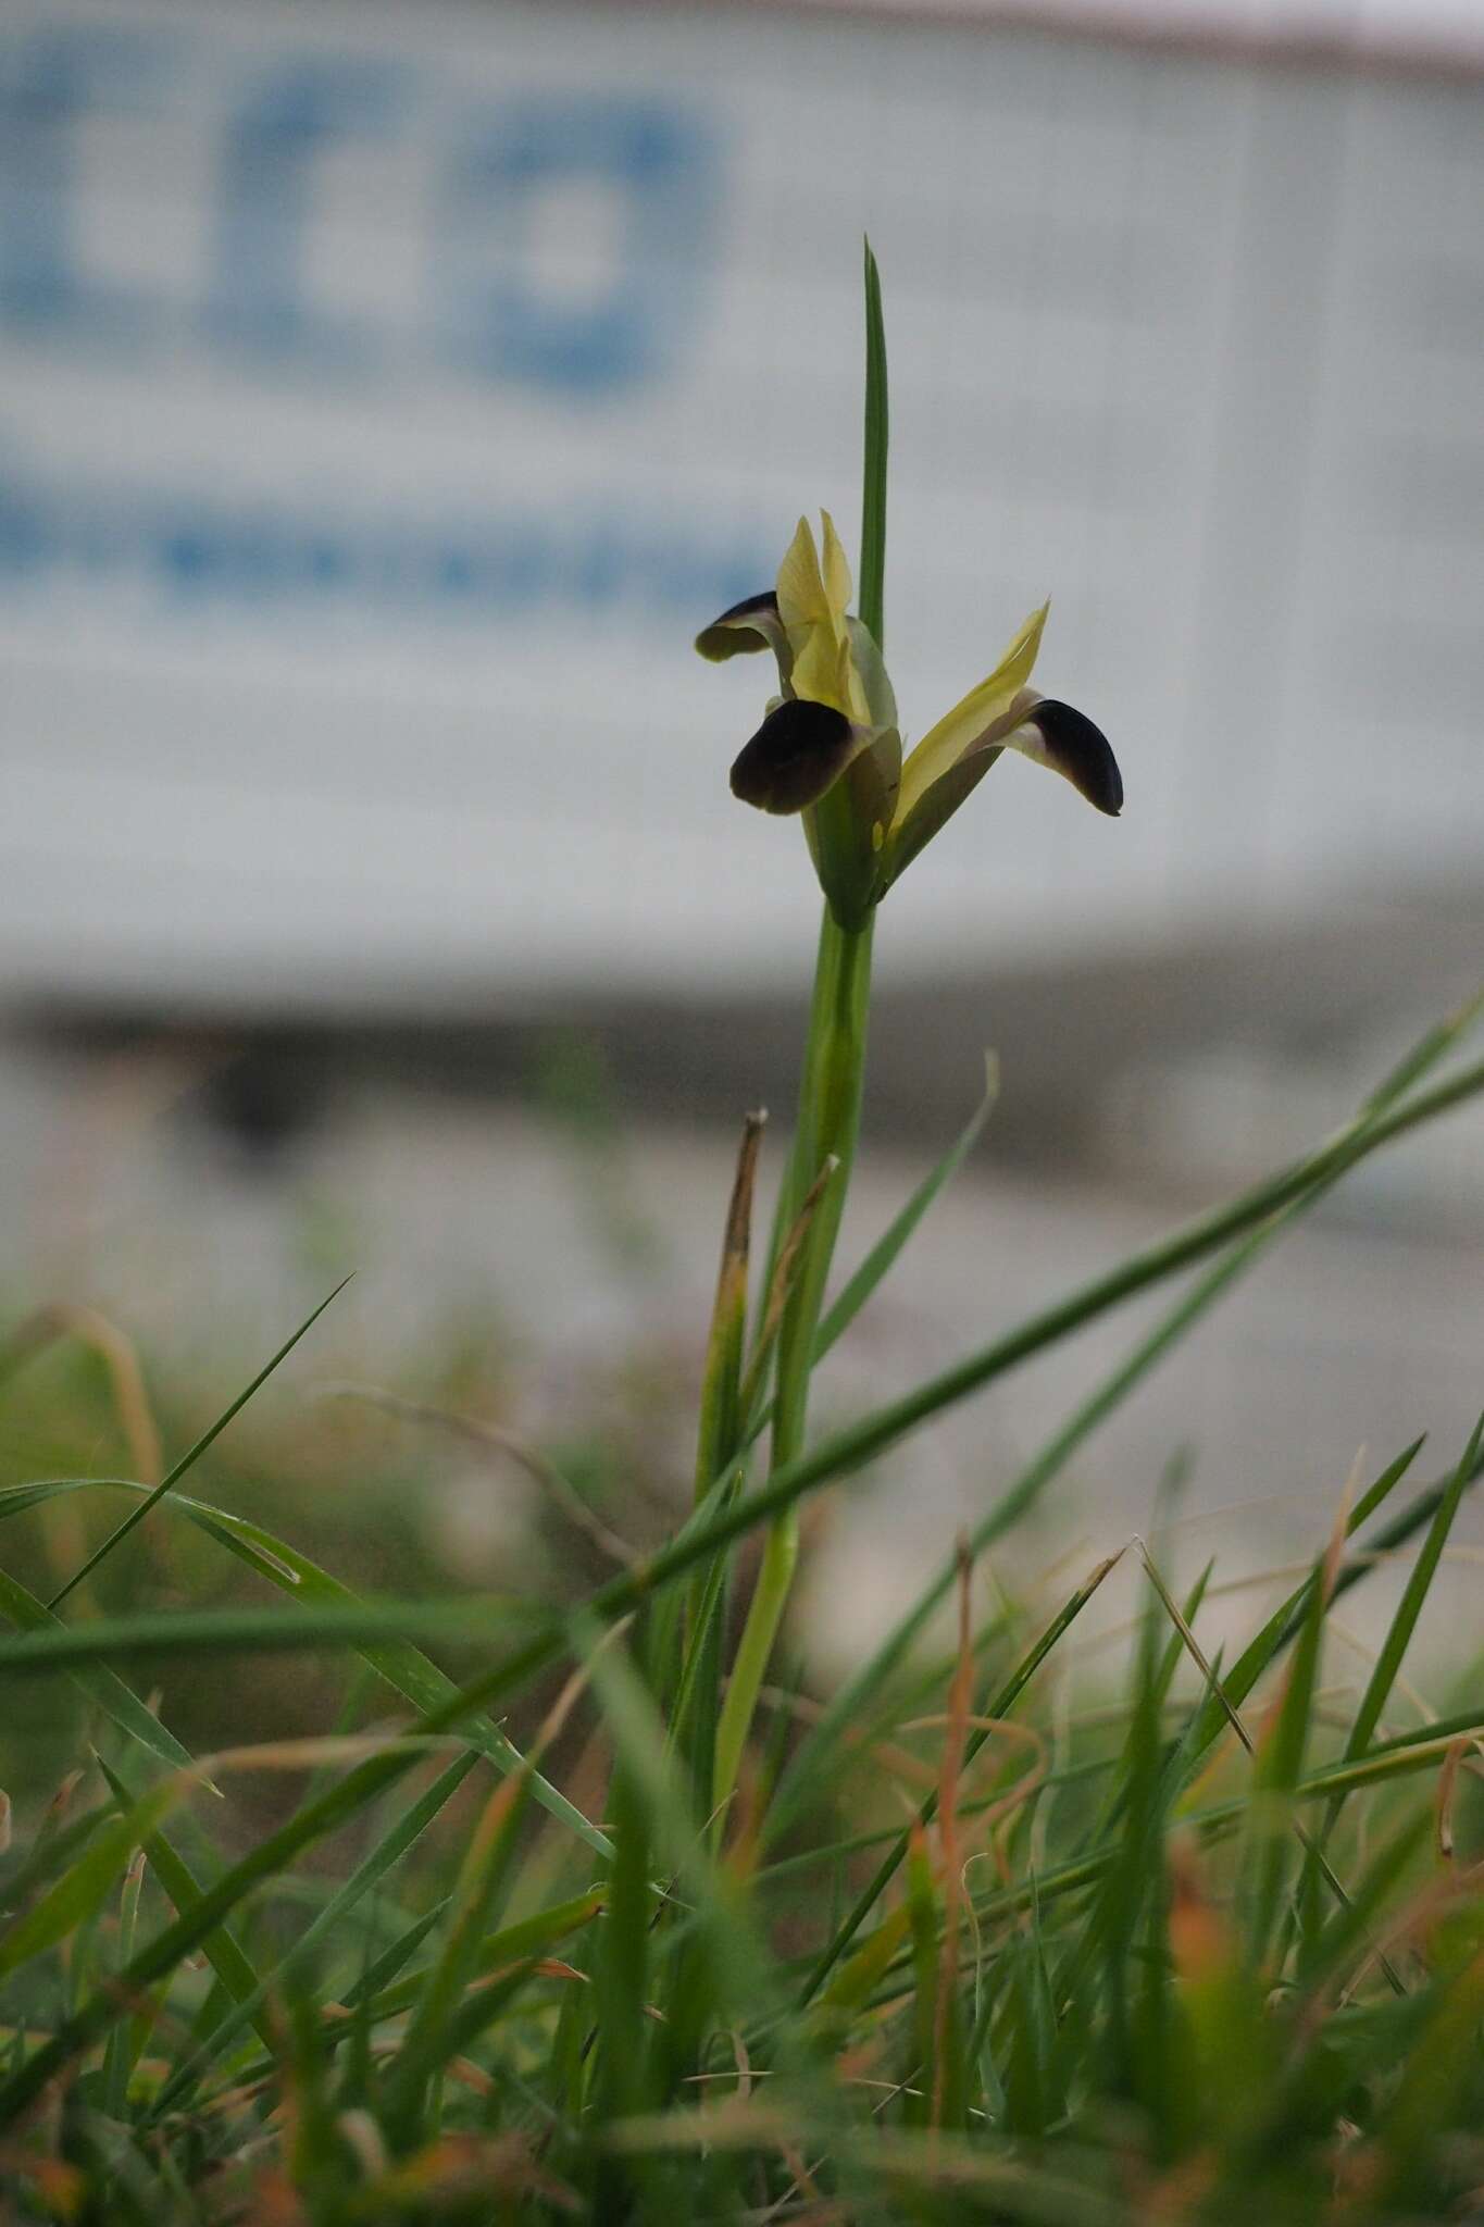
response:
{"label": "yellow-green iris flower with dark velvety drooping petal tips", "polygon": [[776,588],[732,604],[696,648],[714,664],[774,653],[781,693],[732,766],[732,793],[765,813],[803,815],[841,926],[861,926],[1003,750],[1050,766],[1117,817],[1124,782],[1106,735],[1030,686],[1046,604],[903,762],[892,684],[870,630],[850,615],[850,566],[828,510],[821,523],[817,548],[799,519]]}

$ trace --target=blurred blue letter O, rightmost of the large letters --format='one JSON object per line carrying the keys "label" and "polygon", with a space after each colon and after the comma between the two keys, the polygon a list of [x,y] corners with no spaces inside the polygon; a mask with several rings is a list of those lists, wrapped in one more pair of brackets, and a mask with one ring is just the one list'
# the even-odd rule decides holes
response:
{"label": "blurred blue letter O, rightmost of the large letters", "polygon": [[696,307],[714,183],[710,131],[670,102],[530,98],[481,114],[452,160],[438,243],[458,361],[581,396],[663,372]]}

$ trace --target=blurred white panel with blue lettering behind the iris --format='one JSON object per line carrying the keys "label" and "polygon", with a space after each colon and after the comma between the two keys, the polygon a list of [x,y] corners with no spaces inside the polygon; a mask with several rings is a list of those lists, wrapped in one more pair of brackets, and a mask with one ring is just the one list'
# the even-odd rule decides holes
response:
{"label": "blurred white panel with blue lettering behind the iris", "polygon": [[1048,590],[888,967],[1484,837],[1484,96],[783,11],[11,4],[0,987],[469,1004],[803,971],[690,637],[852,532],[910,733]]}

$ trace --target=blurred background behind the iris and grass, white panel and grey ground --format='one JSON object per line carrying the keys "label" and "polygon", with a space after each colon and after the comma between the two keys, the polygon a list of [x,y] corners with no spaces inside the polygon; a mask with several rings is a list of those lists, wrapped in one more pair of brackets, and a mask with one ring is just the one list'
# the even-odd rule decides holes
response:
{"label": "blurred background behind the iris and grass, white panel and grey ground", "polygon": [[[799,510],[854,541],[863,229],[908,739],[1050,592],[1037,679],[1128,806],[1006,759],[892,893],[845,1260],[986,1047],[1003,1089],[825,1412],[1306,1145],[1484,975],[1484,18],[0,11],[2,1298],[98,1309],[176,1452],[356,1267],[202,1488],[372,1579],[598,1550],[345,1383],[561,1445],[641,1543],[685,1477],[819,904],[725,786],[761,668],[690,639]],[[1264,1263],[1035,1552],[1117,1546],[1179,1450],[1181,1561],[1308,1552],[1362,1441],[1455,1456],[1482,1289],[1464,1116]],[[825,1655],[1135,1330],[821,1510]],[[4,1472],[122,1461],[98,1338],[42,1345]]]}

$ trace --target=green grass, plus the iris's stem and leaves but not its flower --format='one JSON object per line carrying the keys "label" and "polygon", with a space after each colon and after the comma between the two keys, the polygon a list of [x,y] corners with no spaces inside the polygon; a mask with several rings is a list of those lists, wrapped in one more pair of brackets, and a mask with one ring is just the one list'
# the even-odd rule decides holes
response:
{"label": "green grass, plus the iris's stem and leaves but not its flower", "polygon": [[[879,639],[870,261],[868,316],[861,590]],[[109,1474],[76,1452],[0,1485],[9,2218],[1482,2216],[1484,1664],[1464,1648],[1431,1706],[1408,1681],[1482,1430],[1357,1477],[1304,1581],[1224,1648],[1213,1572],[1177,1583],[1144,1541],[1101,1541],[1043,1599],[986,1570],[1335,1183],[1484,1093],[1462,1051],[1477,1007],[1428,1029],[1304,1158],[821,1436],[817,1363],[988,1111],[830,1298],[868,949],[825,929],[761,1269],[754,1120],[725,1216],[719,1200],[676,1528],[634,1552],[612,1510],[585,1508],[594,1479],[643,1488],[641,1456],[563,1468],[563,1450],[469,1416],[476,1387],[432,1401],[465,1410],[441,1428],[543,1479],[567,1543],[612,1563],[601,1581],[550,1552],[545,1592],[461,1592],[418,1552],[412,1452],[412,1477],[358,1461],[338,1525],[323,1441],[305,1454],[269,1434],[234,1468],[254,1394],[298,1367],[314,1316],[205,1430],[156,1412],[96,1316],[53,1309],[0,1345],[18,1443],[80,1450],[102,1401],[129,1450]],[[868,1659],[808,1690],[785,1608],[810,1499],[1152,1292],[1164,1312],[997,1481]],[[1342,1468],[1344,1416],[1333,1434]],[[334,1568],[352,1532],[360,1566],[380,1543],[396,1590]],[[1328,1664],[1335,1603],[1408,1552],[1355,1695]],[[1072,1666],[1106,1586],[1135,1603],[1117,1693]]]}

